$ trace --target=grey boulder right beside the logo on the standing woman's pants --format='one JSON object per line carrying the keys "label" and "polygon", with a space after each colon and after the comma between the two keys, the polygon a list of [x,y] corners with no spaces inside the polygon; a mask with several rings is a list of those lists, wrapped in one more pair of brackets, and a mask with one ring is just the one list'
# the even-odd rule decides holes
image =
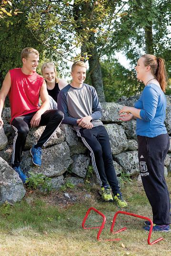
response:
{"label": "grey boulder right beside the logo on the standing woman's pants", "polygon": [[115,155],[114,160],[121,165],[126,174],[136,174],[140,172],[137,151],[122,152]]}

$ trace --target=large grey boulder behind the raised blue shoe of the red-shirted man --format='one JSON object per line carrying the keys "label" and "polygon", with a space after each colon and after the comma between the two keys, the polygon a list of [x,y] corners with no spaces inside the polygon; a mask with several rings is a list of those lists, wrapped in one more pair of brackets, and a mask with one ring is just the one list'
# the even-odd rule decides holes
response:
{"label": "large grey boulder behind the raised blue shoe of the red-shirted man", "polygon": [[63,142],[42,149],[42,164],[40,167],[32,163],[30,151],[23,152],[21,168],[25,173],[31,171],[36,174],[44,174],[47,177],[55,177],[65,173],[71,163],[69,146],[66,142]]}

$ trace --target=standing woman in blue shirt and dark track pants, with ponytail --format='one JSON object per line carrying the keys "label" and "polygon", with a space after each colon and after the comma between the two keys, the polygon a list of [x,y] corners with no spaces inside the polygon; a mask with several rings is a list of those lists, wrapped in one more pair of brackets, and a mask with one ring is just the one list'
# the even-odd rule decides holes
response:
{"label": "standing woman in blue shirt and dark track pants, with ponytail", "polygon": [[[166,117],[166,71],[164,60],[142,55],[135,67],[137,78],[145,84],[134,107],[124,106],[121,121],[137,119],[138,157],[145,193],[153,213],[153,231],[170,231],[170,196],[164,178],[164,159],[170,139],[164,125]],[[145,230],[150,230],[146,221]]]}

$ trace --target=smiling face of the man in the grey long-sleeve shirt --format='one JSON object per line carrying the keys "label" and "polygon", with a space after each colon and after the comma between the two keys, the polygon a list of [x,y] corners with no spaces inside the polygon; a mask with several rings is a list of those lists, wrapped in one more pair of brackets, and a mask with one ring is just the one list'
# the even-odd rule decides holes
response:
{"label": "smiling face of the man in the grey long-sleeve shirt", "polygon": [[71,76],[72,82],[75,83],[75,85],[80,86],[86,79],[86,68],[76,65],[73,71],[71,72]]}

